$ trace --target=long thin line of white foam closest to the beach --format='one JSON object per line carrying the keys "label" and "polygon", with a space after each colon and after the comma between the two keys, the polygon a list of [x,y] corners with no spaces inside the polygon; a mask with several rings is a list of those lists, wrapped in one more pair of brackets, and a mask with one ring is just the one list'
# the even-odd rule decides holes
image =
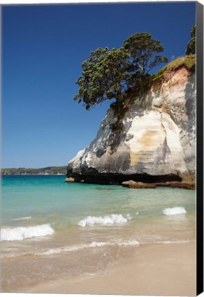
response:
{"label": "long thin line of white foam closest to the beach", "polygon": [[73,251],[77,251],[77,250],[82,250],[84,248],[100,248],[102,246],[111,246],[111,245],[139,245],[140,243],[136,240],[129,240],[129,241],[121,241],[121,242],[111,242],[111,241],[107,241],[107,242],[97,242],[97,241],[93,241],[92,243],[83,243],[83,244],[79,244],[79,245],[73,245],[73,246],[68,246],[68,247],[63,247],[63,248],[55,248],[55,249],[49,249],[47,251],[44,252],[39,252],[39,253],[35,253],[35,255],[37,256],[47,256],[50,254],[60,254],[61,252],[73,252]]}

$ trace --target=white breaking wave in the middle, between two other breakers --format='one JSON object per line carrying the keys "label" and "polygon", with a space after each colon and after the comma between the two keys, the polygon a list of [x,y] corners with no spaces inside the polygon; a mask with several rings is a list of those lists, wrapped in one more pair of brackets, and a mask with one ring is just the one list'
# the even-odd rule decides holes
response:
{"label": "white breaking wave in the middle, between two other breakers", "polygon": [[85,219],[79,221],[78,225],[80,225],[81,227],[86,227],[86,225],[114,225],[121,223],[127,223],[127,219],[125,219],[122,214],[110,214],[109,216],[105,217],[88,216]]}

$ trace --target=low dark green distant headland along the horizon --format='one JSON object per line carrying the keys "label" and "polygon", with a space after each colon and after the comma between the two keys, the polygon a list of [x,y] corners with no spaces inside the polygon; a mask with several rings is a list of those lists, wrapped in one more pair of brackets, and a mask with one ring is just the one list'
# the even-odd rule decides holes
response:
{"label": "low dark green distant headland along the horizon", "polygon": [[1,175],[66,175],[66,166],[44,168],[2,168]]}

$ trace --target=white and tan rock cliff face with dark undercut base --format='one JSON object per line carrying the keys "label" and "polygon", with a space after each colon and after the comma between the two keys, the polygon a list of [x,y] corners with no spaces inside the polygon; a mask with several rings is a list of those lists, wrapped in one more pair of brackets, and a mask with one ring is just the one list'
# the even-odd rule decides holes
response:
{"label": "white and tan rock cliff face with dark undercut base", "polygon": [[97,137],[68,163],[67,177],[97,184],[194,180],[195,75],[179,67],[142,97],[131,93],[123,131],[110,108]]}

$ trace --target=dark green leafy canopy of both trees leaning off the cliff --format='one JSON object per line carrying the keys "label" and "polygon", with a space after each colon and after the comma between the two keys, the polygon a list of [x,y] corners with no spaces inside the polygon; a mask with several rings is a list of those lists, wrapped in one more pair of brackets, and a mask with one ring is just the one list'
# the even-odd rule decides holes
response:
{"label": "dark green leafy canopy of both trees leaning off the cliff", "polygon": [[133,34],[119,49],[100,47],[82,63],[74,99],[90,109],[107,99],[116,99],[116,104],[124,102],[130,87],[136,87],[140,94],[148,85],[151,69],[168,62],[165,56],[158,55],[163,51],[160,41],[149,33]]}

